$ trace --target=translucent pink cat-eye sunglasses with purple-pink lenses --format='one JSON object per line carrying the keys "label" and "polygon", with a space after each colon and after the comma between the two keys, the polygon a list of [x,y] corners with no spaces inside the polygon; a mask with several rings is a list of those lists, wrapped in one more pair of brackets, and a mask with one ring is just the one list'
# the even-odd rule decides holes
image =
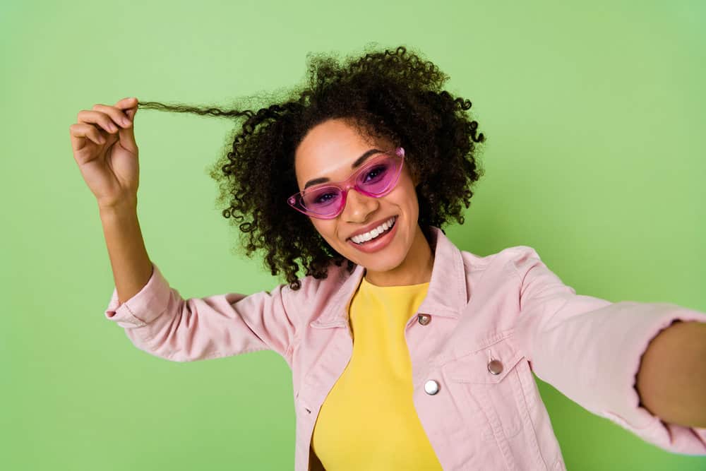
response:
{"label": "translucent pink cat-eye sunglasses with purple-pink lenses", "polygon": [[333,219],[345,208],[349,189],[373,198],[390,193],[400,179],[404,161],[405,149],[401,147],[378,153],[345,181],[312,186],[289,196],[287,203],[308,216]]}

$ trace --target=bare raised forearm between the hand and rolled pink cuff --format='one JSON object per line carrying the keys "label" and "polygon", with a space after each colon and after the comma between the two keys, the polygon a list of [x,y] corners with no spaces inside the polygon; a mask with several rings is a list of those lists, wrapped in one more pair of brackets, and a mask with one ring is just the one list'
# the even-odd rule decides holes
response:
{"label": "bare raised forearm between the hand and rolled pink cuff", "polygon": [[136,201],[100,207],[100,220],[108,248],[119,302],[140,292],[152,276],[152,262],[140,231]]}

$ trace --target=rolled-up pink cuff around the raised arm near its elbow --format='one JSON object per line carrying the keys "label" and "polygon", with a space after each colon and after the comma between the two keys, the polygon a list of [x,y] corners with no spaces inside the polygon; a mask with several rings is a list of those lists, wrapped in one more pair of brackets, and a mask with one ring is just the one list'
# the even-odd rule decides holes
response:
{"label": "rolled-up pink cuff around the raised arm near its elbow", "polygon": [[118,290],[113,294],[105,309],[105,317],[124,328],[136,328],[152,322],[160,316],[169,302],[171,288],[160,269],[152,263],[152,275],[147,284],[137,294],[123,304],[118,302]]}

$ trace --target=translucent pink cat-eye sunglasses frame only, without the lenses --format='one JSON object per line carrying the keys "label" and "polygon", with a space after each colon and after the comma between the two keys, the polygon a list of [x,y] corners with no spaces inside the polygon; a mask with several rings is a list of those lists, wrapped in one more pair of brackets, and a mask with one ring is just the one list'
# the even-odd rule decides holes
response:
{"label": "translucent pink cat-eye sunglasses frame only, without the lenses", "polygon": [[[361,173],[366,172],[375,165],[378,165],[378,162],[380,162],[381,160],[385,160],[383,159],[383,157],[381,157],[382,155],[385,155],[386,158],[400,158],[402,161],[400,162],[400,168],[397,169],[397,174],[395,175],[394,180],[390,183],[390,186],[388,186],[388,188],[385,189],[385,191],[383,191],[382,193],[378,193],[377,195],[375,195],[373,193],[365,191],[364,189],[360,189],[357,186],[357,179]],[[344,208],[346,207],[348,191],[350,189],[355,189],[356,191],[358,191],[358,193],[361,193],[365,196],[370,196],[371,198],[382,198],[386,194],[390,193],[390,191],[393,191],[395,186],[397,186],[397,182],[400,181],[400,175],[402,174],[402,167],[404,167],[404,165],[404,148],[398,147],[392,150],[387,150],[385,152],[380,153],[380,157],[373,157],[373,159],[371,159],[369,162],[366,162],[365,165],[352,172],[352,174],[350,174],[347,179],[343,181],[327,182],[320,185],[311,186],[310,188],[304,191],[298,191],[297,193],[294,193],[292,196],[289,196],[289,198],[287,198],[287,204],[292,206],[292,208],[294,208],[295,210],[299,211],[299,213],[305,214],[310,217],[316,217],[317,219],[333,219],[335,217],[338,217],[338,215],[340,215],[340,213],[342,213]],[[306,193],[309,193],[310,191],[318,191],[322,188],[326,188],[329,186],[332,188],[339,189],[342,193],[340,207],[338,208],[337,212],[334,215],[325,216],[313,212],[311,210],[307,210],[304,206],[304,203],[302,202],[304,200],[304,195],[306,195]]]}

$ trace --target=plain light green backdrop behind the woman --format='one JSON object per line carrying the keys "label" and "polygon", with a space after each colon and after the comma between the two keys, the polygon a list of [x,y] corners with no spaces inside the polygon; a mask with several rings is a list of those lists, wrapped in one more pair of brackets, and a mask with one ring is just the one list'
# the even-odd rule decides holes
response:
{"label": "plain light green backdrop behind the woman", "polygon": [[[706,7],[675,2],[210,1],[0,4],[0,469],[285,470],[289,367],[274,352],[176,363],[104,318],[81,109],[227,105],[299,83],[307,52],[405,44],[473,102],[486,175],[462,250],[533,246],[579,294],[706,311]],[[233,251],[207,167],[232,123],[140,110],[138,214],[183,297],[282,282]],[[616,358],[616,362],[622,359]],[[568,470],[703,470],[539,381]]]}

